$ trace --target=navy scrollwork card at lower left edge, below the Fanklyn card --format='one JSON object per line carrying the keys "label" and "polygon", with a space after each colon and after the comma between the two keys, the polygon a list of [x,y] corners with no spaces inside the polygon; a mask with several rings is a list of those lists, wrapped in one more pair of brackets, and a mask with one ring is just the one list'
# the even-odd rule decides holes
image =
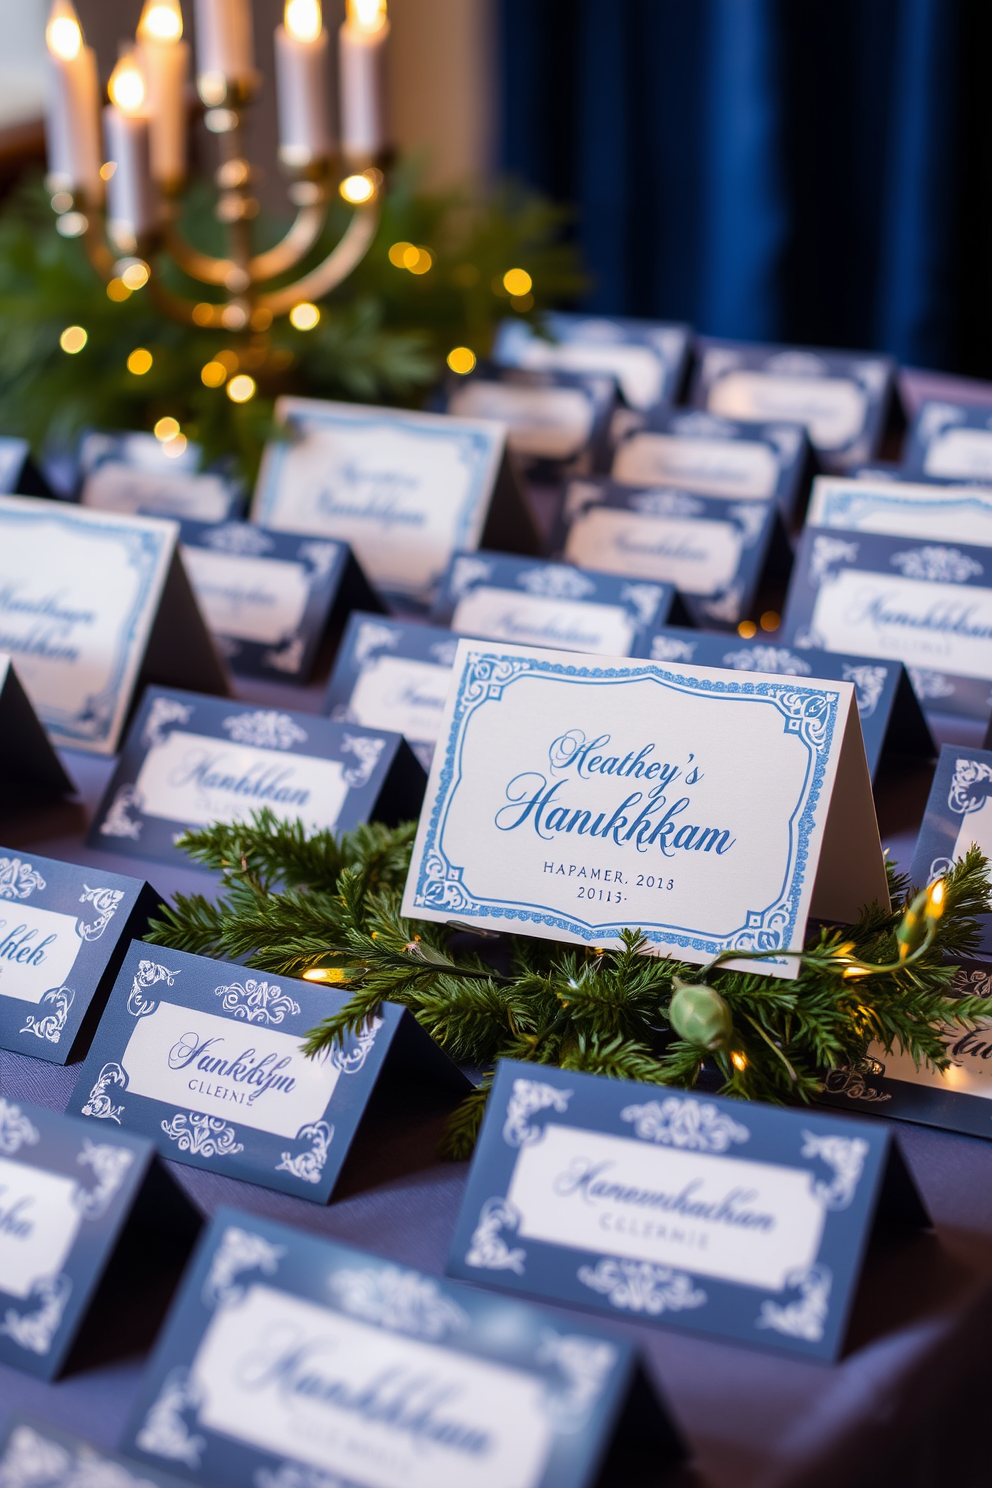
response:
{"label": "navy scrollwork card at lower left edge, below the Fanklyn card", "polygon": [[0,1363],[43,1379],[106,1327],[94,1302],[125,1229],[167,1229],[181,1254],[198,1228],[150,1143],[1,1097],[0,1220]]}

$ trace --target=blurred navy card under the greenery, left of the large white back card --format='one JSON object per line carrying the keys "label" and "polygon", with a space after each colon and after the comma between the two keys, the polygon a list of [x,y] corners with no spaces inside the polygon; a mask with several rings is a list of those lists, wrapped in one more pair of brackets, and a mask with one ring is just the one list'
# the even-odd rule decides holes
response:
{"label": "blurred navy card under the greenery, left of the large white back card", "polygon": [[140,516],[222,522],[239,516],[244,494],[223,475],[199,473],[199,445],[174,452],[155,434],[86,434],[79,451],[83,506]]}

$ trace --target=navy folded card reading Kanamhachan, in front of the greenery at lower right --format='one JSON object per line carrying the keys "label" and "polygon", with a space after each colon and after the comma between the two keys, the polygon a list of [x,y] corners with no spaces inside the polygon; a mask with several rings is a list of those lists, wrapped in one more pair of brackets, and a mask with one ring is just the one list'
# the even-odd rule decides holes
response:
{"label": "navy folded card reading Kanamhachan, in front of the greenery at lower right", "polygon": [[504,1059],[448,1274],[836,1359],[883,1201],[928,1223],[879,1123]]}

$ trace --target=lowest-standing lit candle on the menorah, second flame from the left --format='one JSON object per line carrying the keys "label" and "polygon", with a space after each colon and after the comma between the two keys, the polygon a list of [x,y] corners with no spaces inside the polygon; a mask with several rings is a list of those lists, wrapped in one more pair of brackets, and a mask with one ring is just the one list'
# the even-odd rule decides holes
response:
{"label": "lowest-standing lit candle on the menorah, second flame from the left", "polygon": [[146,88],[132,54],[122,57],[110,74],[110,98],[103,112],[107,159],[115,167],[107,185],[107,228],[120,251],[132,253],[156,220]]}

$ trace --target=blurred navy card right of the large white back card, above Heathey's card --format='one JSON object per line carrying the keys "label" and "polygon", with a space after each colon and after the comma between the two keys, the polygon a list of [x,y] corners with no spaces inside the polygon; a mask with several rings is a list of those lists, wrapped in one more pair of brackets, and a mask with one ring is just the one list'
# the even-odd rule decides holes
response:
{"label": "blurred navy card right of the large white back card, above Heathey's card", "polygon": [[736,629],[754,604],[778,524],[772,501],[571,481],[553,546],[579,568],[671,583],[693,623]]}

